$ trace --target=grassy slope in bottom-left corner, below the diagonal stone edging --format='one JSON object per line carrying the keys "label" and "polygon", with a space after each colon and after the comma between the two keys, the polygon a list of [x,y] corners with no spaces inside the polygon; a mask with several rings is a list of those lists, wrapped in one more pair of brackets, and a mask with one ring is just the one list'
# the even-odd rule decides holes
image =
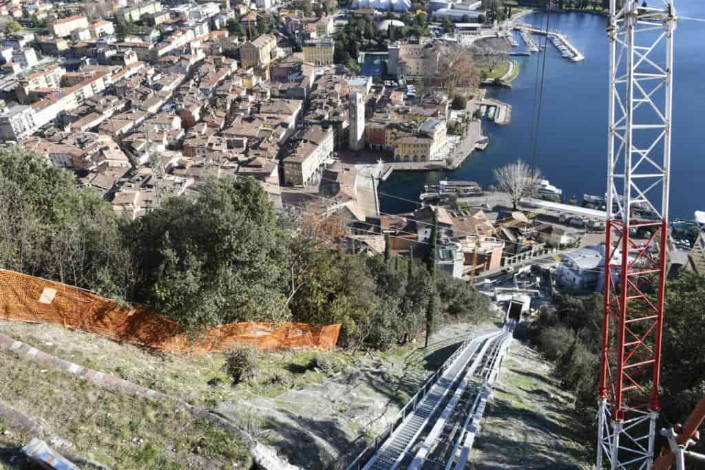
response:
{"label": "grassy slope in bottom-left corner, below the diagonal stone edging", "polygon": [[249,468],[236,436],[172,404],[97,388],[64,371],[0,352],[2,400],[68,439],[76,452],[118,469]]}

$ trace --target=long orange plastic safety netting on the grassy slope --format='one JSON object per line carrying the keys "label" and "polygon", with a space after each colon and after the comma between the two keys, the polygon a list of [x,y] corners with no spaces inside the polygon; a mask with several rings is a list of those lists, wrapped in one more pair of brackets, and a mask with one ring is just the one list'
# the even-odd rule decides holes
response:
{"label": "long orange plastic safety netting on the grassy slope", "polygon": [[259,350],[331,350],[341,330],[340,323],[312,326],[251,321],[217,326],[194,340],[178,333],[176,321],[147,307],[120,307],[114,300],[78,287],[4,269],[0,269],[0,318],[57,323],[155,350],[200,354],[226,352],[235,345]]}

